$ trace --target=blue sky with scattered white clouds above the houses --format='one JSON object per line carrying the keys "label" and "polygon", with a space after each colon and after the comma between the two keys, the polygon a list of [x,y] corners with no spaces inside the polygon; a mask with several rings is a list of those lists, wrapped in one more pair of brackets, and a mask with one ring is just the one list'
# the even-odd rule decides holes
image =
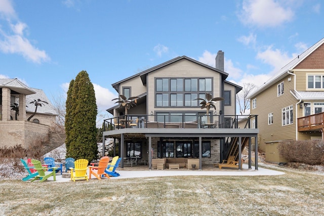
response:
{"label": "blue sky with scattered white clouds above the houses", "polygon": [[[66,97],[86,70],[101,118],[111,84],[178,56],[260,86],[324,37],[321,0],[0,0],[0,78],[18,78],[49,100]],[[97,118],[98,119],[98,118]]]}

